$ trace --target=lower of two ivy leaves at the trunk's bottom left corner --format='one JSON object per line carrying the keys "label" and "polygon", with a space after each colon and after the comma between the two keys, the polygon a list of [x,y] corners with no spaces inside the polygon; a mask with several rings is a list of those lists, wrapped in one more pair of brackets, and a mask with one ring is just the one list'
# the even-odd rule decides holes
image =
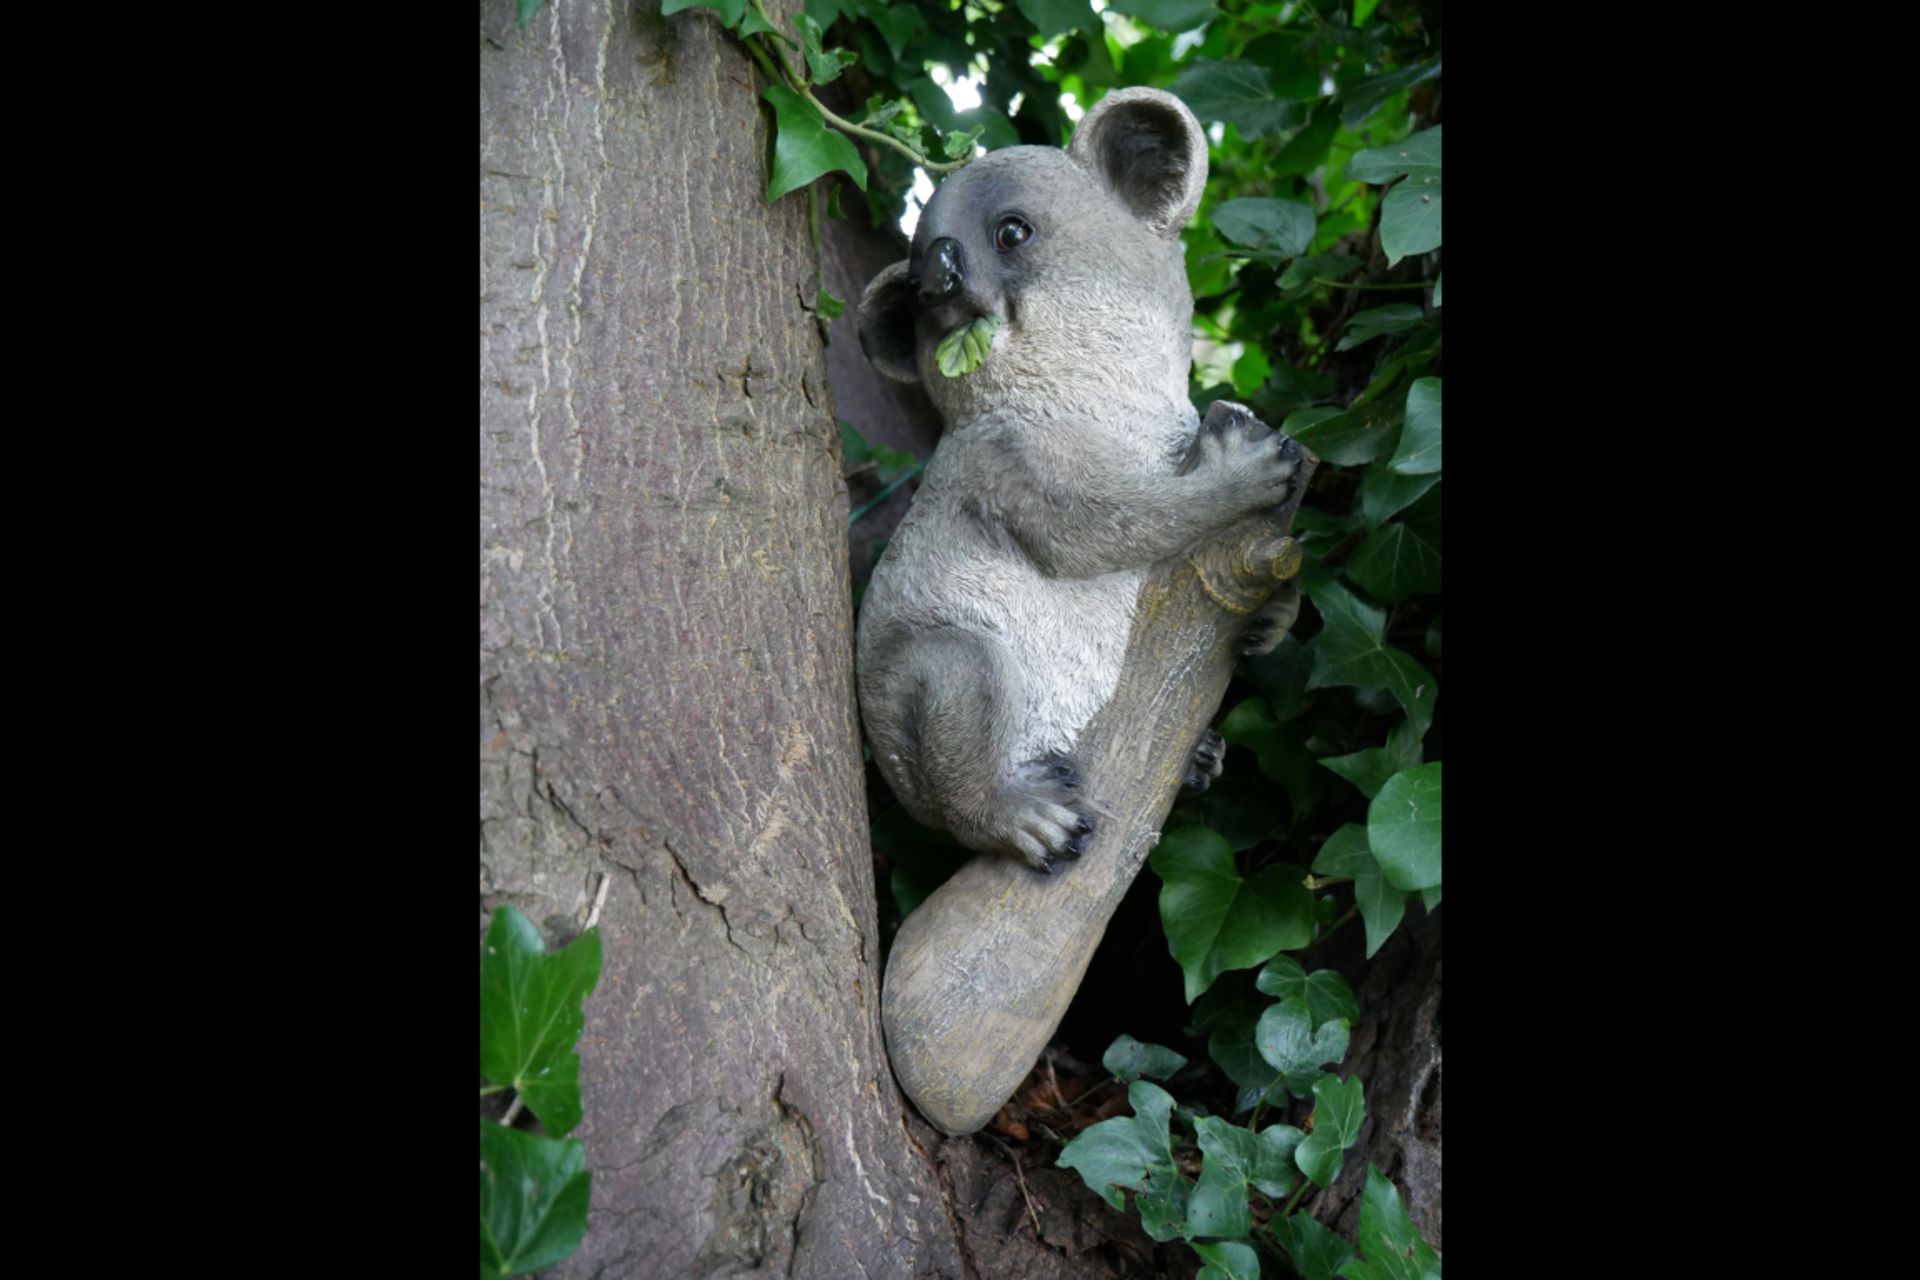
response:
{"label": "lower of two ivy leaves at the trunk's bottom left corner", "polygon": [[480,1280],[540,1270],[580,1247],[593,1184],[586,1159],[578,1140],[480,1121]]}

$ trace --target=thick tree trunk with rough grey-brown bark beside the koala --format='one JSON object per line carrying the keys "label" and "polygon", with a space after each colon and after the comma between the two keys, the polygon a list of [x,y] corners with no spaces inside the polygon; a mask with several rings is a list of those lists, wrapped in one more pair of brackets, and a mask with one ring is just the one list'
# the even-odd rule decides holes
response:
{"label": "thick tree trunk with rough grey-brown bark beside the koala", "polygon": [[964,1276],[881,1050],[847,489],[756,71],[705,12],[495,0],[480,83],[482,908],[566,933],[612,875],[549,1274]]}

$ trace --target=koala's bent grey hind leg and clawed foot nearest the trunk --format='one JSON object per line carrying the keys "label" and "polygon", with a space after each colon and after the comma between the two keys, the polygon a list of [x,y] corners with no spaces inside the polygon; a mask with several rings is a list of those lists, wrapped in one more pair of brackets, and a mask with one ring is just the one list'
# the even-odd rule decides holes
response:
{"label": "koala's bent grey hind leg and clawed foot nearest the trunk", "polygon": [[1071,762],[1014,756],[1021,677],[1006,649],[945,629],[908,641],[889,668],[881,700],[895,708],[897,731],[876,741],[876,752],[899,756],[908,810],[968,848],[1010,854],[1035,871],[1081,856],[1092,821]]}

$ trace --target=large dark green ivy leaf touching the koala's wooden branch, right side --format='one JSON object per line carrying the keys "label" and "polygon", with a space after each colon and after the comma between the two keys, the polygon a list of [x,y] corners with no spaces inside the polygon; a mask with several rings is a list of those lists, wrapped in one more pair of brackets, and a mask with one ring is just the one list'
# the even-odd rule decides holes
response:
{"label": "large dark green ivy leaf touching the koala's wooden branch, right side", "polygon": [[1187,1002],[1227,969],[1252,969],[1313,940],[1313,894],[1300,867],[1271,865],[1248,879],[1233,850],[1206,827],[1179,827],[1154,846],[1167,950],[1187,977]]}

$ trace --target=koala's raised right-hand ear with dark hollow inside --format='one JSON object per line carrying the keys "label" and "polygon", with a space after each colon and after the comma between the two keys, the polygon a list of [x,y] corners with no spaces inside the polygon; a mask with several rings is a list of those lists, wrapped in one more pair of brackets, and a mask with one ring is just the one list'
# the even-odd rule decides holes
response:
{"label": "koala's raised right-hand ear with dark hollow inside", "polygon": [[1160,88],[1116,88],[1096,102],[1068,155],[1167,240],[1181,234],[1206,190],[1206,132],[1185,102]]}

